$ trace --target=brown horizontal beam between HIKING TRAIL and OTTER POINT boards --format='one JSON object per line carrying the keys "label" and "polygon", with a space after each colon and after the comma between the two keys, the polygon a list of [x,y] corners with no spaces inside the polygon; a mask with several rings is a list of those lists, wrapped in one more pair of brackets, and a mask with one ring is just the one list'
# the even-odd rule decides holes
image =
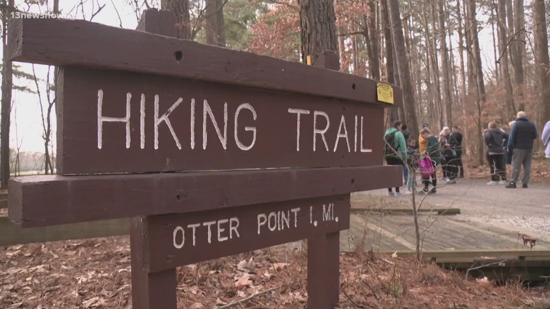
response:
{"label": "brown horizontal beam between HIKING TRAIL and OTTER POINT boards", "polygon": [[394,187],[400,166],[10,179],[8,216],[22,227],[185,213]]}

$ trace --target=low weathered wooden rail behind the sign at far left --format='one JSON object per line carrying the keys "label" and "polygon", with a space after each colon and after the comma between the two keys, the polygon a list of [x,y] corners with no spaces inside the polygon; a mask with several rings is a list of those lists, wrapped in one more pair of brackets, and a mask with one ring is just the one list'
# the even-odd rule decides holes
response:
{"label": "low weathered wooden rail behind the sign at far left", "polygon": [[0,217],[0,246],[128,235],[130,219],[111,219],[22,229]]}

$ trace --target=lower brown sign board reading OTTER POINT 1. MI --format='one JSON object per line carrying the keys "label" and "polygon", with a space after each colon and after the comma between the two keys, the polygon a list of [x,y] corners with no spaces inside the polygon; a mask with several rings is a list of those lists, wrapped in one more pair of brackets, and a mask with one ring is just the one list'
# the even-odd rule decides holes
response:
{"label": "lower brown sign board reading OTTER POINT 1. MI", "polygon": [[160,272],[349,228],[350,196],[143,218],[144,269]]}

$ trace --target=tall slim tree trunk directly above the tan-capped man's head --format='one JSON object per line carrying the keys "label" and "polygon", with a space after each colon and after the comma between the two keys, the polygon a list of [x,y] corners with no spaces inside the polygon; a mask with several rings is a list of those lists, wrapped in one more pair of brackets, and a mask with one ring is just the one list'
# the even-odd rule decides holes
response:
{"label": "tall slim tree trunk directly above the tan-capped man's head", "polygon": [[514,37],[514,81],[516,86],[516,95],[519,98],[521,111],[525,110],[525,101],[523,96],[524,73],[523,73],[523,55],[525,53],[525,12],[524,0],[514,0],[514,30],[518,35]]}

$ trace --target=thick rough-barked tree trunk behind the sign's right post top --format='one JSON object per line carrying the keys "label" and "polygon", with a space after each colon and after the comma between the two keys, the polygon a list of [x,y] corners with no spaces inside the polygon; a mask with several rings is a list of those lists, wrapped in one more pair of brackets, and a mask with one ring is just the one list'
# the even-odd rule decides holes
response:
{"label": "thick rough-barked tree trunk behind the sign's right post top", "polygon": [[307,56],[311,56],[315,63],[324,50],[338,54],[333,0],[300,0],[299,3],[302,62],[307,63]]}

